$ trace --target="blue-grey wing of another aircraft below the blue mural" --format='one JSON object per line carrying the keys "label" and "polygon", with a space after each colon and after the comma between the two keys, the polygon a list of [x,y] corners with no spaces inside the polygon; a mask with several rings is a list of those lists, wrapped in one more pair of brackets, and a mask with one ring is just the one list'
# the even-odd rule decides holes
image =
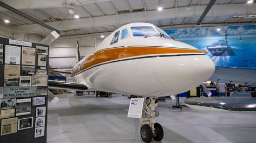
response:
{"label": "blue-grey wing of another aircraft below the blue mural", "polygon": [[208,80],[256,87],[256,69],[216,67]]}

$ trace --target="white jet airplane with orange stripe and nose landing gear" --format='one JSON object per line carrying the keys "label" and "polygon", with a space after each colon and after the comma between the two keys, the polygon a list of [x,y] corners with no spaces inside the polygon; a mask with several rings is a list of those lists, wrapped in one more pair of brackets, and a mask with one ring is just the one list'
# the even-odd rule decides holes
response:
{"label": "white jet airplane with orange stripe and nose landing gear", "polygon": [[[78,47],[78,46],[77,46]],[[49,81],[49,88],[118,92],[149,97],[141,121],[141,138],[161,141],[163,129],[155,123],[157,97],[191,90],[215,70],[199,49],[176,41],[149,23],[131,23],[111,33],[71,71],[74,82]]]}

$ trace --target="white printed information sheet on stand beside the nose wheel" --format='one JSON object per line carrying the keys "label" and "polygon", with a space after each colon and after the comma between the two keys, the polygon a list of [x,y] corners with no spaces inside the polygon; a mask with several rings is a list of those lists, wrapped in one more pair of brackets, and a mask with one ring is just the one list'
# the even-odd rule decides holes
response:
{"label": "white printed information sheet on stand beside the nose wheel", "polygon": [[130,98],[129,118],[141,118],[144,98]]}

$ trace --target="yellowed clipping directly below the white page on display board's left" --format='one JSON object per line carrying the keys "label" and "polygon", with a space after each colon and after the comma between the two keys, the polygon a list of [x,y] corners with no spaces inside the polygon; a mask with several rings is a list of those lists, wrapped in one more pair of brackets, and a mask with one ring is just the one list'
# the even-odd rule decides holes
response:
{"label": "yellowed clipping directly below the white page on display board's left", "polygon": [[19,77],[19,65],[4,65],[4,77]]}

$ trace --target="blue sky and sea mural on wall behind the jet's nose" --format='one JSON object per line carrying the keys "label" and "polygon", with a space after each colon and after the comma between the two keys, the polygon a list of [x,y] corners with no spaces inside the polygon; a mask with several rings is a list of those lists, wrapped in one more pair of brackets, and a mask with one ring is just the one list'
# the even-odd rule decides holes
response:
{"label": "blue sky and sea mural on wall behind the jet's nose", "polygon": [[256,69],[256,25],[187,28],[165,32],[176,40],[204,51],[216,66]]}

